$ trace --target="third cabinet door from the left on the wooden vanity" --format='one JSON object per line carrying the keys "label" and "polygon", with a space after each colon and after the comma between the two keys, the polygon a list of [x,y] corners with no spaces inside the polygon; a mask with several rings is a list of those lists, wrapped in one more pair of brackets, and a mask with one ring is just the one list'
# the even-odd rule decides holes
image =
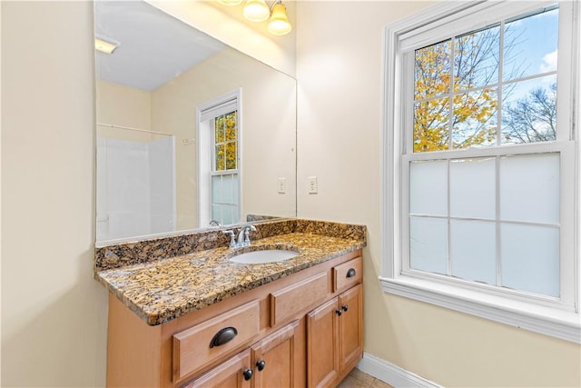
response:
{"label": "third cabinet door from the left on the wooden vanity", "polygon": [[309,387],[332,386],[340,372],[338,298],[307,315],[307,381]]}

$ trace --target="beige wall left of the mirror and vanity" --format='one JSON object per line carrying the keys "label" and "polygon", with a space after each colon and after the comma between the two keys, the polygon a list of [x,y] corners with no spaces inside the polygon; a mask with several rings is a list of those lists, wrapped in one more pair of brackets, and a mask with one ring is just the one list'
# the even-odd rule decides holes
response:
{"label": "beige wall left of the mirror and vanity", "polygon": [[2,2],[2,385],[103,386],[88,2]]}

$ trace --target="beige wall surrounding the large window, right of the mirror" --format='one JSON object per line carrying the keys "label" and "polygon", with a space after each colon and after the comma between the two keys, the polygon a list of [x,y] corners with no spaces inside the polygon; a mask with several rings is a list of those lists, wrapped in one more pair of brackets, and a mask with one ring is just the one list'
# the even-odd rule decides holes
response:
{"label": "beige wall surrounding the large window, right of the mirror", "polygon": [[[444,386],[579,386],[577,344],[379,288],[383,27],[428,5],[297,5],[299,216],[368,226],[366,352]],[[310,175],[317,195],[307,194]]]}

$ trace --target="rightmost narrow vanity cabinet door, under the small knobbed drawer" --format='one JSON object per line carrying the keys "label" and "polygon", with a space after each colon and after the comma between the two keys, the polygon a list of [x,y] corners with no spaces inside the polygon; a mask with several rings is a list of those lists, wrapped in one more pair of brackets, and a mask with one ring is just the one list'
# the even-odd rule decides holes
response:
{"label": "rightmost narrow vanity cabinet door, under the small knobbed drawer", "polygon": [[340,372],[359,363],[363,353],[363,287],[361,284],[339,295]]}

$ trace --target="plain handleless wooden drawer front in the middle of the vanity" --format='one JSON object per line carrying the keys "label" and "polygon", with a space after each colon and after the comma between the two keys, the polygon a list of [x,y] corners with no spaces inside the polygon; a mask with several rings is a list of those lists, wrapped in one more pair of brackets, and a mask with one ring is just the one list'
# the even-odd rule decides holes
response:
{"label": "plain handleless wooden drawer front in the middle of the vanity", "polygon": [[327,272],[271,293],[271,327],[296,315],[302,308],[324,301],[328,293]]}

